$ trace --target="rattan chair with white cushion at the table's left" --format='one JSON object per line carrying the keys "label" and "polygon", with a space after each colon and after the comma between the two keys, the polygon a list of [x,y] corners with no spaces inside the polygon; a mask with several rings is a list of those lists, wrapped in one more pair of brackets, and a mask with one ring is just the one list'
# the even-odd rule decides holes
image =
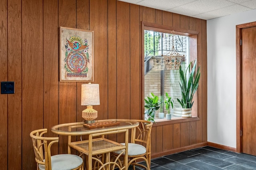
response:
{"label": "rattan chair with white cushion at the table's left", "polygon": [[51,146],[58,142],[59,138],[43,137],[46,132],[46,128],[30,132],[36,155],[37,170],[83,170],[83,160],[77,155],[57,154],[51,156]]}

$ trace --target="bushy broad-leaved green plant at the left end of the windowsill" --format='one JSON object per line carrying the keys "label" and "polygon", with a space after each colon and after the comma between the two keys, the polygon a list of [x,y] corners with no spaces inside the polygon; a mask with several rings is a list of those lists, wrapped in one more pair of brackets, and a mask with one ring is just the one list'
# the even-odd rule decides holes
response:
{"label": "bushy broad-leaved green plant at the left end of the windowsill", "polygon": [[157,111],[160,108],[161,101],[158,102],[158,96],[151,93],[152,97],[147,97],[148,99],[144,99],[145,101],[145,108],[148,109],[145,112],[145,115],[148,116],[147,120],[151,122],[155,122],[155,111]]}

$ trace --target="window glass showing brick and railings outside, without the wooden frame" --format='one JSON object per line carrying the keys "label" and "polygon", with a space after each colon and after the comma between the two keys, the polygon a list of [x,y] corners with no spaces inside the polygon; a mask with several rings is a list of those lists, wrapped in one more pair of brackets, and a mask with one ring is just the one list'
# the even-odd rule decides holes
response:
{"label": "window glass showing brick and railings outside, without the wooden frame", "polygon": [[[146,98],[154,93],[161,99],[168,93],[174,99],[174,107],[179,108],[177,102],[177,99],[181,99],[179,69],[170,69],[164,62],[164,56],[172,52],[172,46],[176,52],[184,56],[181,66],[185,71],[190,62],[188,36],[144,30],[144,62],[148,65],[145,67],[147,70],[144,71],[144,94]],[[159,112],[167,113],[164,105],[161,105],[156,112],[156,119],[159,117]],[[171,114],[174,117],[179,116],[173,112],[173,109]]]}

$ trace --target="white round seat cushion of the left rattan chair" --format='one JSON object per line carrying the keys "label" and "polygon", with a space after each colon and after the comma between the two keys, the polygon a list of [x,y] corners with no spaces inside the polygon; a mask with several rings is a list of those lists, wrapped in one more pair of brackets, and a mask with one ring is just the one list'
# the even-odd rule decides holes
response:
{"label": "white round seat cushion of the left rattan chair", "polygon": [[[51,156],[52,170],[72,170],[83,163],[83,159],[74,154],[58,154]],[[44,165],[39,165],[44,170]]]}

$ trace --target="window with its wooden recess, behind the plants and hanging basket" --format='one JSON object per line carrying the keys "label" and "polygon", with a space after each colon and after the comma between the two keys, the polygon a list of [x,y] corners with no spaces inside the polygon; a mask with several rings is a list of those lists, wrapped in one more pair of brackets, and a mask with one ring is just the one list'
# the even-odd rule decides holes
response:
{"label": "window with its wooden recess, behind the plants and hanging basket", "polygon": [[[152,26],[151,26],[152,25]],[[158,27],[159,26],[159,27]],[[151,96],[151,93],[157,95],[159,98],[165,96],[167,92],[174,100],[174,107],[180,107],[177,101],[181,99],[180,92],[180,74],[179,69],[169,69],[168,65],[164,63],[164,56],[170,55],[172,47],[182,57],[181,67],[186,71],[186,67],[196,59],[197,51],[197,34],[193,34],[189,30],[182,30],[158,24],[142,23],[142,50],[144,52],[144,95],[146,98]],[[173,29],[173,30],[172,30]],[[176,29],[176,30],[175,30]],[[142,76],[143,77],[143,76]],[[197,101],[194,97],[194,105],[192,115],[197,116]],[[144,99],[143,99],[144,100]],[[156,111],[155,121],[158,119],[158,113],[167,113],[164,105]],[[173,110],[171,110],[172,117],[177,117]]]}

